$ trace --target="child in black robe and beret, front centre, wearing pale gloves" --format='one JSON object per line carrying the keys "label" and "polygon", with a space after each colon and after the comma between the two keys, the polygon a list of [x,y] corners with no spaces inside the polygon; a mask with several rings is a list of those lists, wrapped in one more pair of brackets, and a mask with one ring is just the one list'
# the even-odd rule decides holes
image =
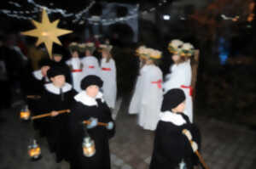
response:
{"label": "child in black robe and beret, front centre, wearing pale gloves", "polygon": [[[102,99],[102,93],[99,92],[102,83],[102,79],[98,76],[86,76],[81,82],[82,92],[74,97],[77,102],[73,105],[69,121],[70,138],[72,138],[70,165],[73,169],[110,169],[108,139],[113,137],[115,127],[110,109]],[[91,117],[96,120],[87,125],[87,132],[95,141],[96,154],[86,157],[82,149],[85,134],[81,122],[90,120]],[[108,123],[108,126],[96,126],[97,121]]]}

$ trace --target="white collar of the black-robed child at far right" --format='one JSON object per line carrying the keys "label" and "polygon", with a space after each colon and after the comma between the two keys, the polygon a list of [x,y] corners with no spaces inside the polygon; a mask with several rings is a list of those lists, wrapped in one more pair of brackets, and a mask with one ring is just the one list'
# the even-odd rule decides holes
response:
{"label": "white collar of the black-robed child at far right", "polygon": [[177,126],[182,126],[183,124],[187,123],[187,121],[183,119],[182,115],[172,113],[171,111],[160,113],[160,121],[172,122]]}

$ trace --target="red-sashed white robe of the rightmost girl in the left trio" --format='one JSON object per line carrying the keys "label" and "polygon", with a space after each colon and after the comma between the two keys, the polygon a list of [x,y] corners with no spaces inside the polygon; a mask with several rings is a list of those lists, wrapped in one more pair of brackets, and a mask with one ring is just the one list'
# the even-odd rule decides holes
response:
{"label": "red-sashed white robe of the rightmost girl in the left trio", "polygon": [[109,62],[106,62],[106,59],[101,60],[101,78],[103,81],[103,96],[106,100],[108,107],[115,107],[117,86],[116,86],[116,67],[113,59],[109,59]]}

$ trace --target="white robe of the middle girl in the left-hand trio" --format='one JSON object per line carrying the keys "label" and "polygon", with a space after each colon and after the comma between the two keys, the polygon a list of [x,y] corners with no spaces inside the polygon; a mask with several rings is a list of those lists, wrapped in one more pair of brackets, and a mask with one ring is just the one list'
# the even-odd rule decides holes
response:
{"label": "white robe of the middle girl in the left-hand trio", "polygon": [[94,56],[85,56],[81,59],[83,64],[83,77],[89,75],[101,76],[100,66],[98,60]]}

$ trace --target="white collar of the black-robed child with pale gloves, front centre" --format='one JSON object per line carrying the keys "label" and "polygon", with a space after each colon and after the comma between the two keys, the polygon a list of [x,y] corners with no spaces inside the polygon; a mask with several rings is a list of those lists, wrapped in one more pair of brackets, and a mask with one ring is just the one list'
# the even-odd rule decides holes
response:
{"label": "white collar of the black-robed child with pale gloves, front centre", "polygon": [[82,104],[84,105],[88,105],[88,106],[92,106],[92,105],[98,105],[97,102],[96,102],[96,99],[102,99],[102,102],[104,102],[104,99],[102,98],[103,97],[103,94],[101,92],[99,92],[97,95],[96,95],[96,98],[91,98],[90,96],[88,96],[86,94],[85,91],[82,91],[80,93],[78,93],[74,99],[78,102],[81,102]]}

